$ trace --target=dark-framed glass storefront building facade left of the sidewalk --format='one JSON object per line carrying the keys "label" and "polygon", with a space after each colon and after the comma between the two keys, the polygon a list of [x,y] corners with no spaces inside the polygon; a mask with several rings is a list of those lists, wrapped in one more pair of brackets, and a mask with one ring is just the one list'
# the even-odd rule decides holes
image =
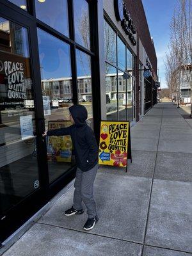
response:
{"label": "dark-framed glass storefront building facade left of the sidewalk", "polygon": [[44,131],[79,103],[99,141],[100,120],[156,104],[156,81],[141,0],[0,0],[1,244],[75,176],[70,138]]}

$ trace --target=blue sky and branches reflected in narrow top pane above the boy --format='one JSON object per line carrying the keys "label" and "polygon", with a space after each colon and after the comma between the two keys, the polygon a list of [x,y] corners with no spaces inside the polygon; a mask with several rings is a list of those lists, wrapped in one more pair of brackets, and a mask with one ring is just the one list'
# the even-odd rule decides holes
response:
{"label": "blue sky and branches reflected in narrow top pane above the boy", "polygon": [[89,4],[86,0],[74,0],[74,24],[76,42],[90,49]]}

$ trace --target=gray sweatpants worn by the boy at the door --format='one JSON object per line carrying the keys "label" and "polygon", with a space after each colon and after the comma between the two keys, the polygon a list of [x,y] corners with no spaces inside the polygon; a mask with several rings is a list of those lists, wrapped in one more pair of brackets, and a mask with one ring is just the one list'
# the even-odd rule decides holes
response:
{"label": "gray sweatpants worn by the boy at the door", "polygon": [[94,218],[97,215],[96,204],[93,198],[93,183],[97,174],[98,164],[87,172],[77,168],[76,180],[74,183],[74,209],[83,209],[82,201],[86,206],[88,218]]}

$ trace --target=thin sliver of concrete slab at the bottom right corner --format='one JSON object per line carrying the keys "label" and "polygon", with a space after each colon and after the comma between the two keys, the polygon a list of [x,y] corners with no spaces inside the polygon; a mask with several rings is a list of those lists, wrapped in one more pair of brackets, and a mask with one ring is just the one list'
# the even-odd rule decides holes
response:
{"label": "thin sliver of concrete slab at the bottom right corner", "polygon": [[150,246],[144,247],[143,256],[189,256],[191,253],[176,252],[173,250],[154,248]]}

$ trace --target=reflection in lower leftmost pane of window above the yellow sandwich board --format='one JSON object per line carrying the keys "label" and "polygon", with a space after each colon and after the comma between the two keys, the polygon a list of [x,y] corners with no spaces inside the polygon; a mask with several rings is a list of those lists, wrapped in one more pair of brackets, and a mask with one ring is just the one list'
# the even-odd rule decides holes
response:
{"label": "reflection in lower leftmost pane of window above the yellow sandwich board", "polygon": [[107,120],[118,120],[116,68],[106,63],[106,113]]}

